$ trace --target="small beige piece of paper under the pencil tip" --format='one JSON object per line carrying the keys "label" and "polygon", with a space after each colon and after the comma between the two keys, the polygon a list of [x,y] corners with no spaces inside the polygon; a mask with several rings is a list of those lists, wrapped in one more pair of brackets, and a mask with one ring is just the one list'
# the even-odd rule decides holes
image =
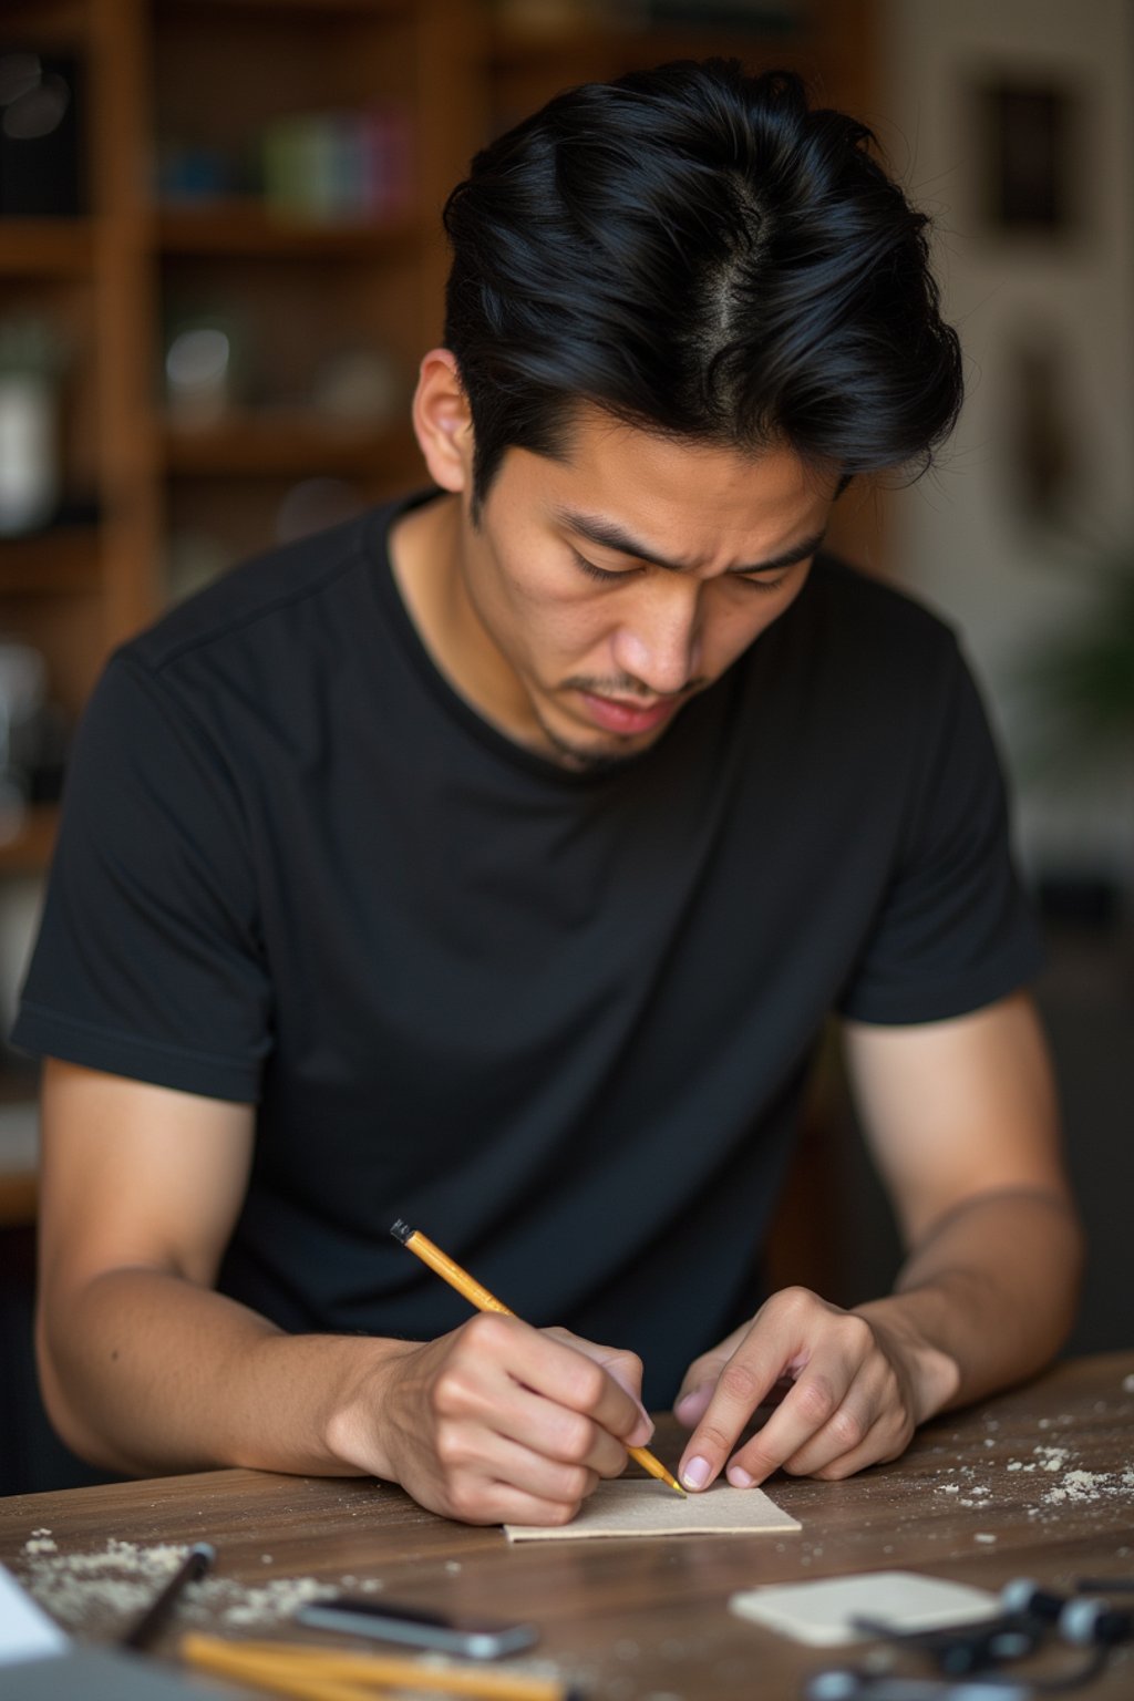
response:
{"label": "small beige piece of paper under the pencil tip", "polygon": [[578,1536],[753,1536],[799,1529],[762,1488],[714,1483],[704,1493],[673,1493],[660,1482],[598,1483],[570,1524],[505,1524],[508,1541],[571,1541]]}

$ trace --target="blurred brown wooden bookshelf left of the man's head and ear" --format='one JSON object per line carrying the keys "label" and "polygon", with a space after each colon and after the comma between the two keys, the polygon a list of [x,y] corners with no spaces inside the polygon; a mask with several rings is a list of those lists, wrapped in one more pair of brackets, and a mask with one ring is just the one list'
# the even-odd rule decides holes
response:
{"label": "blurred brown wooden bookshelf left of the man's head and ear", "polygon": [[[272,543],[277,509],[304,480],[337,480],[360,502],[420,481],[408,393],[440,325],[440,201],[485,128],[483,27],[476,0],[0,10],[0,51],[80,68],[83,214],[0,218],[0,321],[39,315],[66,344],[63,495],[94,515],[0,538],[0,633],[44,653],[71,716],[109,650],[163,607],[179,536],[204,532],[235,560]],[[272,124],[371,102],[405,112],[398,208],[303,216],[255,184],[167,194],[179,146],[247,168]],[[163,354],[196,303],[250,327],[247,393],[207,429],[165,417]],[[388,352],[401,393],[386,417],[321,405],[320,361],[340,342]],[[0,874],[43,868],[53,837],[54,813],[32,811],[0,845]]]}

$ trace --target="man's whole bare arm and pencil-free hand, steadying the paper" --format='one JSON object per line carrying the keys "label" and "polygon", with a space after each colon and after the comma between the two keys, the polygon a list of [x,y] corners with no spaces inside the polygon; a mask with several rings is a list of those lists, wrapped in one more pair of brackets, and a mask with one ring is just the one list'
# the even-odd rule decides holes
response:
{"label": "man's whole bare arm and pencil-free hand, steadying the paper", "polygon": [[[777,1466],[840,1478],[896,1458],[925,1419],[1040,1369],[1074,1315],[1083,1255],[1047,1046],[1015,993],[950,1021],[848,1022],[847,1065],[908,1257],[894,1291],[843,1311],[774,1294],[690,1366],[680,1475],[741,1487]],[[753,1412],[787,1380],[763,1429]]]}

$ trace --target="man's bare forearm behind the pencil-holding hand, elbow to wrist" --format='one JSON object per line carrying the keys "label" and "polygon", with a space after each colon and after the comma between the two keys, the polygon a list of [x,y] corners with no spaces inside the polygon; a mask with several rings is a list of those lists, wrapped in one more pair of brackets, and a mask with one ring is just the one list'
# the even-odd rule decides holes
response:
{"label": "man's bare forearm behind the pencil-holding hand, elbow to wrist", "polygon": [[383,1386],[405,1342],[286,1335],[155,1269],[111,1271],[44,1306],[37,1337],[56,1427],[109,1470],[393,1475]]}

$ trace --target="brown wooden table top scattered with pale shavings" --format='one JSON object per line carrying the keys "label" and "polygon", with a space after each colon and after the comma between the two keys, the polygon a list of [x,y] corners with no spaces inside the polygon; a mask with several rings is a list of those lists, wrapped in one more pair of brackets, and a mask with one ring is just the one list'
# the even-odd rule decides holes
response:
{"label": "brown wooden table top scattered with pale shavings", "polygon": [[[655,1448],[677,1463],[672,1420]],[[733,1590],[891,1568],[995,1590],[1020,1575],[1059,1592],[1081,1575],[1134,1577],[1134,1352],[1057,1366],[944,1417],[896,1465],[843,1483],[777,1478],[770,1488],[801,1533],[510,1546],[498,1529],[434,1517],[384,1483],[211,1471],[0,1500],[0,1560],[36,1592],[36,1567],[46,1563],[34,1556],[36,1541],[54,1541],[53,1563],[63,1567],[111,1539],[209,1539],[219,1551],[218,1602],[224,1589],[224,1599],[243,1589],[255,1601],[272,1580],[286,1587],[282,1579],[381,1582],[389,1597],[534,1619],[541,1669],[602,1701],[797,1698],[809,1674],[860,1662],[864,1650],[821,1652],[758,1630],[728,1611]],[[1134,1609],[1134,1596],[1125,1606]],[[124,1623],[95,1601],[80,1628],[112,1640]],[[286,1623],[235,1626],[231,1607],[226,1616],[202,1597],[185,1601],[182,1624],[294,1635]],[[170,1633],[158,1652],[175,1645]],[[1030,1670],[1051,1675],[1080,1658],[1051,1648]],[[1119,1650],[1081,1692],[1129,1701],[1134,1648]]]}

